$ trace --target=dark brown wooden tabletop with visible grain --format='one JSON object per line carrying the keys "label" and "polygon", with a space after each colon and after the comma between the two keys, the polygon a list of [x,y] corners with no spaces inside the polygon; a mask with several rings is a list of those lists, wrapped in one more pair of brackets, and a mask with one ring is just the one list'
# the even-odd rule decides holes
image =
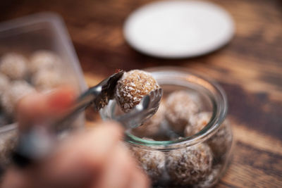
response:
{"label": "dark brown wooden tabletop with visible grain", "polygon": [[39,11],[62,15],[90,85],[116,68],[161,65],[214,78],[228,95],[236,140],[231,166],[217,187],[282,187],[282,1],[214,0],[233,16],[234,39],[212,54],[181,60],[145,56],[125,43],[125,18],[149,1],[4,1],[0,20]]}

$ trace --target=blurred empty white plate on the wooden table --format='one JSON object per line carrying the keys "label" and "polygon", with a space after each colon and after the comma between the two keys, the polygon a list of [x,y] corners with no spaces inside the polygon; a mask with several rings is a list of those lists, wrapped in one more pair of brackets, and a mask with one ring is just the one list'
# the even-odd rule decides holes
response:
{"label": "blurred empty white plate on the wooden table", "polygon": [[162,58],[200,56],[231,40],[234,23],[223,8],[205,1],[157,1],[138,8],[123,33],[137,51]]}

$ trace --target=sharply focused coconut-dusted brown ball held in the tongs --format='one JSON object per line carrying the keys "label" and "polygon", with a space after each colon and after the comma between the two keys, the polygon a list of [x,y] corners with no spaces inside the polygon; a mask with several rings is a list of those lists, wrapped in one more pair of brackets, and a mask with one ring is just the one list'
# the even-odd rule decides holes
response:
{"label": "sharply focused coconut-dusted brown ball held in the tongs", "polygon": [[155,89],[159,89],[159,84],[152,75],[143,70],[130,70],[118,80],[116,101],[124,112],[128,112]]}

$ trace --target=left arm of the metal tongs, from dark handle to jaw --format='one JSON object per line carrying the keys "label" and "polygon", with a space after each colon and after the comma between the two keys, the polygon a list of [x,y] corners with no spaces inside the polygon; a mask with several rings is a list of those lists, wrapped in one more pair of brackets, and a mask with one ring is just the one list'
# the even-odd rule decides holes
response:
{"label": "left arm of the metal tongs, from dark handle to jaw", "polygon": [[28,130],[20,132],[18,143],[12,152],[13,164],[25,168],[26,166],[40,161],[51,153],[55,147],[57,136],[66,130],[72,130],[71,120],[84,111],[88,106],[99,110],[108,104],[114,96],[116,82],[123,75],[123,71],[111,75],[94,87],[90,87],[81,94],[71,108],[62,115],[59,120],[45,122],[45,125],[32,125]]}

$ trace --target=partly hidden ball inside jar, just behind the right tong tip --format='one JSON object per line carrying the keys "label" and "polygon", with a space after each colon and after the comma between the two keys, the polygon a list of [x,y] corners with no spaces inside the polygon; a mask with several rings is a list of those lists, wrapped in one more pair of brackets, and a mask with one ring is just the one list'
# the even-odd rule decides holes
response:
{"label": "partly hidden ball inside jar, just behind the right tong tip", "polygon": [[164,103],[161,102],[159,104],[157,113],[155,113],[152,118],[149,118],[149,120],[146,120],[143,125],[131,130],[132,134],[137,137],[152,137],[154,134],[157,134],[157,132],[159,132],[161,123],[164,120],[165,111],[166,106],[164,106]]}

